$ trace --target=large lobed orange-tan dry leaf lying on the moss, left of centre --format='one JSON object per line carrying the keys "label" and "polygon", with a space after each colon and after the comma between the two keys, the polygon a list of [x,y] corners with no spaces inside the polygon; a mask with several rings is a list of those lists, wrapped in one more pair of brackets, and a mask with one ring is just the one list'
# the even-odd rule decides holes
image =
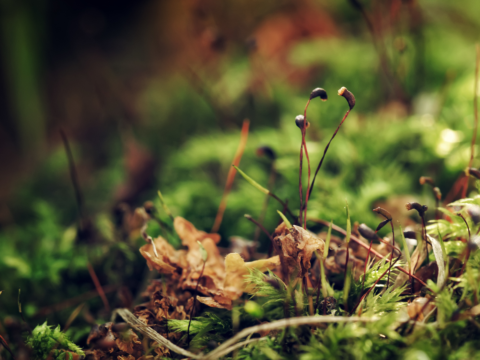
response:
{"label": "large lobed orange-tan dry leaf lying on the moss, left of centre", "polygon": [[[180,216],[174,219],[173,225],[182,244],[187,246],[188,250],[175,250],[165,239],[158,237],[154,240],[158,257],[155,257],[151,244],[142,246],[140,252],[147,260],[150,269],[170,275],[170,279],[174,280],[166,288],[194,290],[198,284],[198,292],[205,295],[204,299],[199,300],[208,306],[231,308],[232,300],[238,299],[246,290],[247,284],[245,284],[244,276],[248,275],[248,269],[257,268],[266,271],[275,269],[279,265],[278,256],[248,263],[245,263],[238,253],[228,254],[224,258],[216,246],[220,240],[218,234],[207,234],[197,230],[191,222]],[[207,253],[201,279],[199,277],[204,260],[199,242]],[[303,246],[306,246],[306,249],[302,251],[310,251],[307,243]],[[308,262],[310,262],[310,257]],[[178,291],[175,296],[178,296]],[[158,309],[156,310],[157,318],[158,313],[161,313],[162,317],[165,316],[165,312],[161,311],[162,308],[159,305],[154,304],[154,307]],[[184,306],[187,307],[187,304],[185,303]]]}

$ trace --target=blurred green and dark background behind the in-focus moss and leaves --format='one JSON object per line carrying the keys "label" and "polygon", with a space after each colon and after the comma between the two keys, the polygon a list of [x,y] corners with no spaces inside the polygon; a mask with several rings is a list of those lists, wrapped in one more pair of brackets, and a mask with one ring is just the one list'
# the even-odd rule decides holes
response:
{"label": "blurred green and dark background behind the in-focus moss and leaves", "polygon": [[[352,221],[375,227],[372,206],[383,204],[414,224],[405,200],[434,206],[419,177],[434,178],[445,198],[468,164],[475,0],[2,0],[0,9],[0,333],[12,343],[22,327],[18,288],[31,325],[63,326],[85,302],[69,330],[81,346],[90,324],[108,320],[88,262],[111,307],[139,300],[144,241],[129,235],[126,219],[146,200],[160,208],[160,189],[175,216],[209,231],[245,118],[240,168],[267,186],[272,162],[256,149],[270,146],[271,190],[298,212],[294,119],[315,87],[329,99],[308,110],[313,169],[348,109],[337,89],[357,102],[330,146],[309,216],[345,226],[347,199]],[[84,199],[80,236],[60,129]],[[263,203],[237,175],[222,246],[232,235],[253,238],[243,214],[259,218]],[[270,201],[269,230],[276,209]],[[149,233],[160,230],[151,224]]]}

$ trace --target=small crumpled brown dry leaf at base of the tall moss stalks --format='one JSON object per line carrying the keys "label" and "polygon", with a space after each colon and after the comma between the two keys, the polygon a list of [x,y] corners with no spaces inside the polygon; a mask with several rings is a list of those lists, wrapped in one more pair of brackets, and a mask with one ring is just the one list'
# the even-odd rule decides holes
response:
{"label": "small crumpled brown dry leaf at base of the tall moss stalks", "polygon": [[303,277],[310,268],[313,252],[324,251],[324,240],[296,225],[288,229],[282,222],[275,229],[274,235],[274,240],[282,249],[289,276]]}

